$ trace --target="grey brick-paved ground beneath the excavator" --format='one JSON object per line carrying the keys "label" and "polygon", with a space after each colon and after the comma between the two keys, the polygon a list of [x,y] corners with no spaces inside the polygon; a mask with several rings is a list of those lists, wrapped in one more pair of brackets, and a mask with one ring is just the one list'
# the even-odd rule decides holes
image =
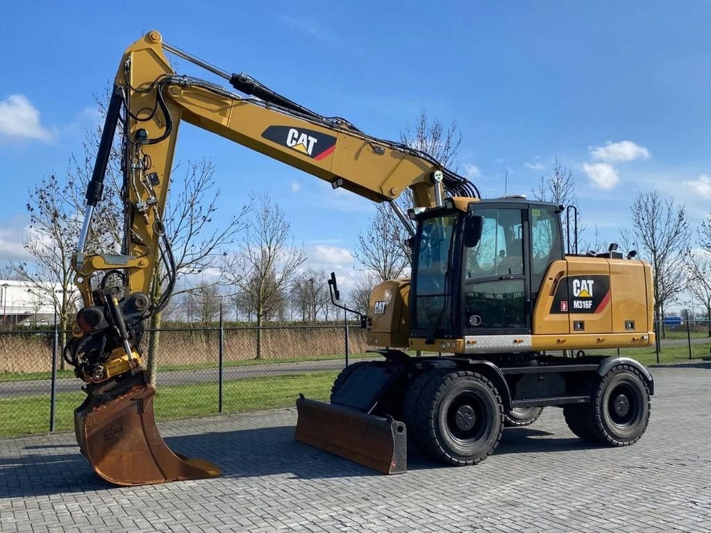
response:
{"label": "grey brick-paved ground beneath the excavator", "polygon": [[292,409],[161,424],[213,480],[112,488],[72,434],[0,441],[0,531],[711,532],[711,364],[653,370],[646,436],[574,438],[560,409],[487,461],[386,477],[292,440]]}

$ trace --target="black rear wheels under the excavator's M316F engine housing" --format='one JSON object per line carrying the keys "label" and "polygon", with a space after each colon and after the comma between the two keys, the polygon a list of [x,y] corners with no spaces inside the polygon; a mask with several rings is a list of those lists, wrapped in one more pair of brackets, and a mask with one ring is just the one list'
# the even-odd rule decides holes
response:
{"label": "black rear wheels under the excavator's M316F engine housing", "polygon": [[587,441],[631,446],[644,434],[651,414],[649,387],[631,365],[612,367],[598,380],[590,404],[566,406],[570,430]]}

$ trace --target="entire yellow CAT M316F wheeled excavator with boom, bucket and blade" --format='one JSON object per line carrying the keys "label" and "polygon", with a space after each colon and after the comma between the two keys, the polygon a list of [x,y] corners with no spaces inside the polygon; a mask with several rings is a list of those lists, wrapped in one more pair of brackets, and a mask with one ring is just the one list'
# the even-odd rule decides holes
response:
{"label": "entire yellow CAT M316F wheeled excavator with boom, bucket and blade", "polygon": [[[242,94],[177,75],[166,52]],[[407,468],[407,441],[447,463],[478,463],[504,424],[527,424],[549,405],[562,407],[581,438],[626,446],[641,437],[651,375],[634,360],[584,350],[653,343],[648,264],[614,250],[565,254],[563,206],[482,199],[432,156],[317,114],[151,31],[119,63],[73,257],[84,306],[64,355],[86,382],[75,431],[102,478],[141,485],[220,473],[162,440],[140,348],[145,321],[164,308],[176,277],[164,212],[183,121],[388,202],[412,235],[412,279],[376,286],[362,320],[382,358],[346,367],[330,404],[297,399],[297,440],[398,473]],[[91,253],[92,213],[117,131],[124,239],[120,254]],[[394,200],[407,188],[415,205],[406,215]],[[151,301],[159,265],[169,281]],[[337,298],[335,276],[329,284]]]}

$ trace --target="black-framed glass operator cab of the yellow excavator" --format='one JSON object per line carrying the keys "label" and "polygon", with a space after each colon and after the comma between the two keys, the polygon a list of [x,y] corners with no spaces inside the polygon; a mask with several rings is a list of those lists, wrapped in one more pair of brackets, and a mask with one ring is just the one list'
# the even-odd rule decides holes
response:
{"label": "black-framed glass operator cab of the yellow excavator", "polygon": [[448,200],[417,217],[412,336],[530,334],[545,271],[564,257],[559,206],[495,198],[464,207]]}

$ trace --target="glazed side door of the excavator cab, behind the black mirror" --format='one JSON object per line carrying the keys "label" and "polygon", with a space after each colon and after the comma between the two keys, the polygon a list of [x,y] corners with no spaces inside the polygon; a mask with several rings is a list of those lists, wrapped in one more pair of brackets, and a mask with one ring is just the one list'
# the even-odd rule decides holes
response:
{"label": "glazed side door of the excavator cab, behind the black mirror", "polygon": [[530,333],[528,205],[479,205],[481,237],[462,254],[464,335]]}

